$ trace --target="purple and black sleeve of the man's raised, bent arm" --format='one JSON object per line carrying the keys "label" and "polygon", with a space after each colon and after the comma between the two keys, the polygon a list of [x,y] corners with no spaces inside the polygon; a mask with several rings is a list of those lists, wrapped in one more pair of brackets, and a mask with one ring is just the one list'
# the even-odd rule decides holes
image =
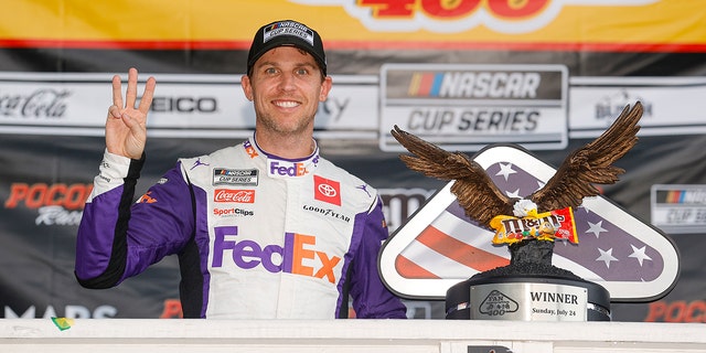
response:
{"label": "purple and black sleeve of the man's raised, bent arm", "polygon": [[76,238],[75,275],[86,288],[109,288],[179,253],[191,238],[190,185],[178,164],[133,202],[142,160],[130,161],[120,186],[86,203]]}

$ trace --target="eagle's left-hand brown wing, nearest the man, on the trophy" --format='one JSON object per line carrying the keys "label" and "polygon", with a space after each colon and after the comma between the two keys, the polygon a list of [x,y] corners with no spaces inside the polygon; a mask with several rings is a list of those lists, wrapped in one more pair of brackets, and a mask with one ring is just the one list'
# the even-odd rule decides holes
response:
{"label": "eagle's left-hand brown wing, nearest the man, on the trophy", "polygon": [[397,126],[391,132],[413,153],[399,156],[407,168],[427,176],[454,180],[451,193],[456,195],[467,216],[490,227],[489,223],[494,216],[512,214],[514,201],[504,195],[485,170],[464,153],[448,152]]}

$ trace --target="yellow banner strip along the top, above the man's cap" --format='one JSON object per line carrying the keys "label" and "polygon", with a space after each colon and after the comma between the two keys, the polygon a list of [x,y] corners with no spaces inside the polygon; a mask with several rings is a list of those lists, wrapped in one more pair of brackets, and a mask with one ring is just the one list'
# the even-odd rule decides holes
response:
{"label": "yellow banner strip along the top, above the man's cap", "polygon": [[[328,49],[703,50],[699,1],[137,0],[12,1],[2,46],[240,49],[279,19],[317,29]],[[629,13],[629,15],[627,15]],[[237,15],[237,21],[233,21]],[[143,19],[150,21],[143,21]],[[43,23],[44,25],[35,25]],[[113,25],[120,23],[120,25]],[[620,35],[611,29],[620,28]],[[439,35],[442,34],[442,35]],[[469,39],[472,39],[469,41]]]}

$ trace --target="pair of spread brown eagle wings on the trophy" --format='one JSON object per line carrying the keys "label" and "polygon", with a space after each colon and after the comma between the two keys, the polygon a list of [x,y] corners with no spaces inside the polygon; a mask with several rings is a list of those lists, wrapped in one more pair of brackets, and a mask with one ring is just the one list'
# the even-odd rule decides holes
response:
{"label": "pair of spread brown eagle wings on the trophy", "polygon": [[[537,212],[575,208],[584,197],[600,193],[593,184],[617,182],[624,170],[614,167],[613,162],[637,143],[642,113],[640,101],[632,107],[625,106],[601,136],[570,152],[554,176],[525,200],[532,201]],[[485,170],[467,154],[448,152],[397,126],[391,132],[413,154],[399,156],[409,169],[440,180],[454,180],[451,192],[470,218],[490,228],[493,217],[513,214],[513,207],[521,199],[503,194]]]}

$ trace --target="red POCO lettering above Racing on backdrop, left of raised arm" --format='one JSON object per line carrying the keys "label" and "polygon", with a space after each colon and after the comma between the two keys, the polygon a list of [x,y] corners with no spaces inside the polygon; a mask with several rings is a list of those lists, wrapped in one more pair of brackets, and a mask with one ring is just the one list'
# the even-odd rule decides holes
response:
{"label": "red POCO lettering above Racing on backdrop, left of raised arm", "polygon": [[93,184],[12,183],[4,207],[14,208],[23,202],[28,208],[64,206],[68,210],[77,210],[83,208],[92,191]]}

